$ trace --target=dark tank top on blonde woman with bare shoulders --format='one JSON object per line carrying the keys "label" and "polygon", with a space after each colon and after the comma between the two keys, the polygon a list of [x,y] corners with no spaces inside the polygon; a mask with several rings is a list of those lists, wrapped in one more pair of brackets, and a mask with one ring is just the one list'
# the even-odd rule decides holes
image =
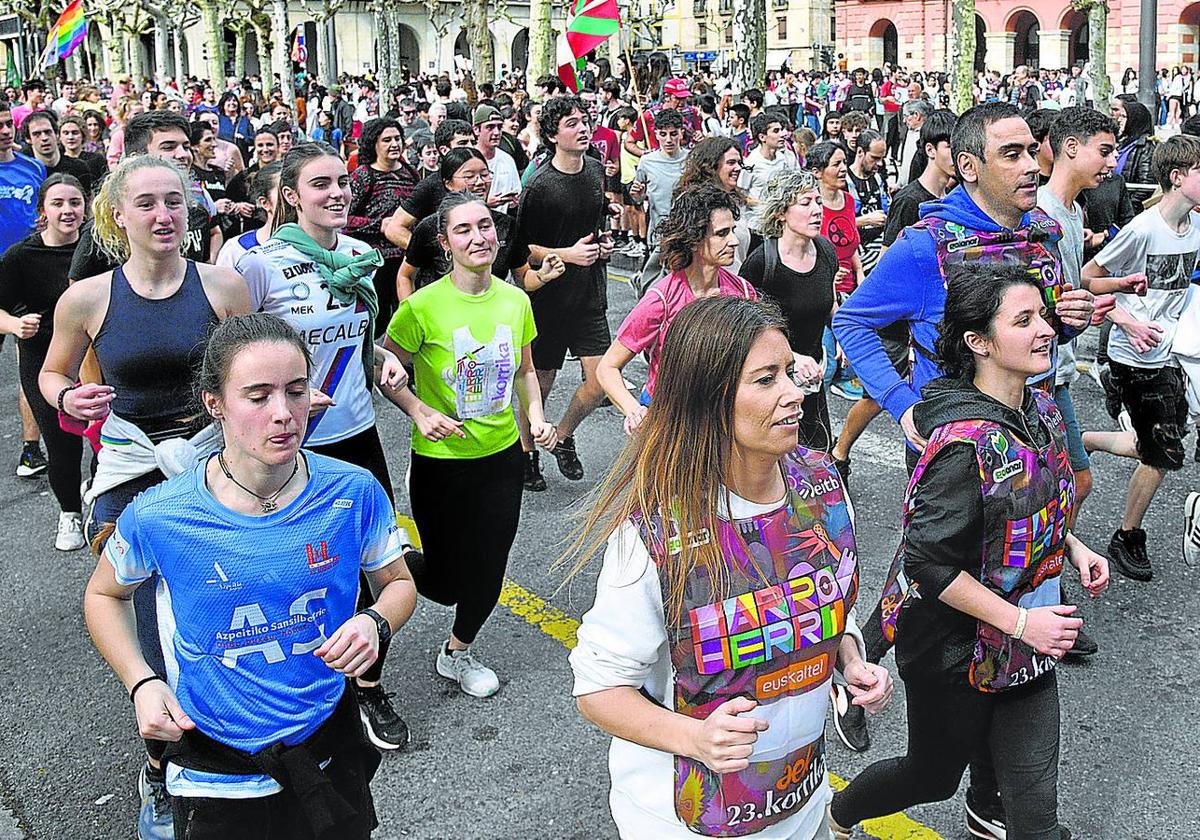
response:
{"label": "dark tank top on blonde woman with bare shoulders", "polygon": [[113,386],[113,410],[151,440],[192,433],[198,415],[193,380],[217,323],[196,263],[169,298],[149,300],[130,286],[124,268],[113,270],[104,323],[92,341],[104,382]]}

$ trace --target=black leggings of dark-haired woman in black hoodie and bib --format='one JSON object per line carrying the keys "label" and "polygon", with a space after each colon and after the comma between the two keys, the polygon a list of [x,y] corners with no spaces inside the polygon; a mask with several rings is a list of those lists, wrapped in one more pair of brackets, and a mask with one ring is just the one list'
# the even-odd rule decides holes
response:
{"label": "black leggings of dark-haired woman in black hoodie and bib", "polygon": [[[954,682],[947,683],[947,679]],[[991,750],[1008,840],[1058,840],[1058,679],[988,695],[965,677],[906,680],[908,752],[877,761],[834,796],[842,826],[949,799],[973,754]]]}

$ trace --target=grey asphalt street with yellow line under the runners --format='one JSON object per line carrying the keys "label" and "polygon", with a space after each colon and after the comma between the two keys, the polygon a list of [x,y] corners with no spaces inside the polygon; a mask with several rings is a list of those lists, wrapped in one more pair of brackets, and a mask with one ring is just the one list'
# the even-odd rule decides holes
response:
{"label": "grey asphalt street with yellow line under the runners", "polygon": [[[632,302],[629,286],[611,284],[614,330]],[[0,456],[8,458],[0,475],[0,520],[8,522],[0,529],[0,580],[7,586],[10,628],[10,641],[0,648],[0,840],[131,838],[142,745],[128,700],[84,628],[80,604],[95,560],[82,551],[54,551],[56,508],[46,480],[13,476],[20,428],[11,344],[0,353],[0,404],[8,407],[0,419]],[[637,365],[630,379],[641,380],[644,368]],[[569,364],[550,400],[552,420],[577,382],[578,366]],[[1085,428],[1114,427],[1090,379],[1081,378],[1074,394]],[[830,402],[836,425],[848,403]],[[379,425],[403,514],[409,424],[395,409],[380,408]],[[575,710],[560,641],[570,637],[571,619],[590,606],[596,566],[560,588],[563,575],[552,563],[581,499],[623,444],[620,418],[600,409],[577,440],[587,475],[569,482],[553,457],[544,456],[550,488],[526,493],[509,564],[509,605],[497,607],[476,644],[478,655],[500,674],[500,692],[474,700],[434,673],[434,650],[450,624],[445,607],[421,601],[392,642],[384,683],[412,726],[413,743],[386,755],[376,778],[377,838],[616,836],[607,808],[607,738]],[[853,454],[860,610],[877,595],[896,546],[905,488],[901,445],[884,416]],[[1189,438],[1189,454],[1193,445]],[[1132,468],[1110,456],[1096,458],[1096,491],[1078,533],[1098,551],[1120,521]],[[1099,655],[1061,667],[1060,818],[1075,838],[1200,838],[1200,569],[1188,568],[1180,548],[1183,499],[1198,488],[1196,476],[1189,458],[1182,473],[1166,479],[1150,511],[1153,582],[1115,574],[1103,600],[1082,606]],[[466,511],[463,527],[472,527]],[[890,658],[886,664],[894,668]],[[829,766],[839,776],[851,779],[869,762],[902,751],[899,680],[896,688],[892,706],[871,721],[868,754],[851,754],[829,728]],[[875,836],[967,836],[961,793],[907,816],[928,829],[896,828],[893,821]]]}

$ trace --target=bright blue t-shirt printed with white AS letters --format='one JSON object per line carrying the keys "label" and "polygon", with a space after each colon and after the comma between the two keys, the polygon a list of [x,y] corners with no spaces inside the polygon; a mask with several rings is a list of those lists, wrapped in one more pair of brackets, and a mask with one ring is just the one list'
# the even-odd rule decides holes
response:
{"label": "bright blue t-shirt printed with white AS letters", "polygon": [[[247,752],[300,743],[332,714],[346,677],[312,652],[354,614],[359,569],[402,553],[395,512],[367,470],[305,457],[308,484],[264,516],[220,504],[199,463],[138,496],[104,548],[122,584],[158,572],[167,682],[200,732]],[[170,764],[167,790],[245,798],[280,786]]]}

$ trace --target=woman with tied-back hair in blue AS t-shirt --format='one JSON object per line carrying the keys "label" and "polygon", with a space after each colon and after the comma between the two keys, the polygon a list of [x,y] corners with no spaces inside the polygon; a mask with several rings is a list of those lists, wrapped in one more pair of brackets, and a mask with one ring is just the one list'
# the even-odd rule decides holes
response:
{"label": "woman with tied-back hair in blue AS t-shirt", "polygon": [[[223,448],[126,508],[84,596],[142,736],[170,742],[175,836],[248,824],[262,838],[367,838],[376,826],[379,756],[348,678],[379,659],[416,590],[378,481],[300,450],[310,366],[274,316],[214,332],[198,390]],[[379,594],[355,612],[360,569]],[[174,628],[164,674],[143,656],[130,602],[155,572]]]}

